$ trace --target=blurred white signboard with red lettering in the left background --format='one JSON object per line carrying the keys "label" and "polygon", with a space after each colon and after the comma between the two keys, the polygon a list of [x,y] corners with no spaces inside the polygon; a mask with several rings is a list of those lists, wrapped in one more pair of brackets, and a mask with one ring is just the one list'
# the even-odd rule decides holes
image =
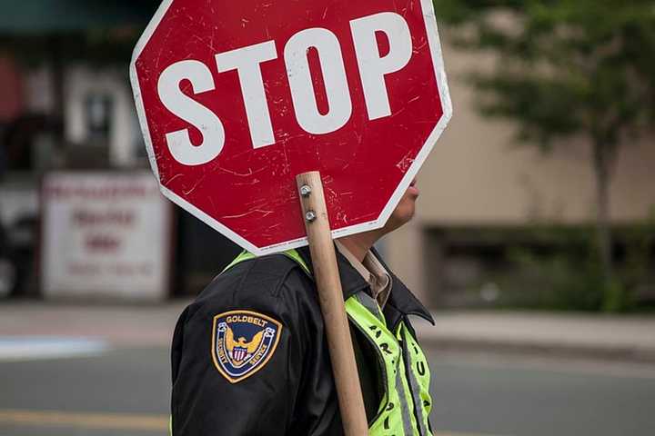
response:
{"label": "blurred white signboard with red lettering in the left background", "polygon": [[171,208],[150,173],[50,173],[41,196],[45,297],[166,298]]}

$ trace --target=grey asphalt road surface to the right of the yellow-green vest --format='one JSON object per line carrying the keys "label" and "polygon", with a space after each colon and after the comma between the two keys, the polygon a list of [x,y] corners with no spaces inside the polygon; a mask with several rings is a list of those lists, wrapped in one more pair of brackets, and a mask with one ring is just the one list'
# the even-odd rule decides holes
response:
{"label": "grey asphalt road surface to the right of the yellow-green vest", "polygon": [[437,362],[438,428],[513,436],[655,434],[655,372],[636,367],[459,355]]}

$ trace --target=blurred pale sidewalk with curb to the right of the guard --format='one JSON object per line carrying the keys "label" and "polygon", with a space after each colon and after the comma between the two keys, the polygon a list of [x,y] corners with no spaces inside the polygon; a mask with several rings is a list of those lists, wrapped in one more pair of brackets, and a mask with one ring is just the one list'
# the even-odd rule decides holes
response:
{"label": "blurred pale sidewalk with curb to the right of the guard", "polygon": [[442,350],[519,352],[655,363],[655,316],[434,312],[418,335]]}

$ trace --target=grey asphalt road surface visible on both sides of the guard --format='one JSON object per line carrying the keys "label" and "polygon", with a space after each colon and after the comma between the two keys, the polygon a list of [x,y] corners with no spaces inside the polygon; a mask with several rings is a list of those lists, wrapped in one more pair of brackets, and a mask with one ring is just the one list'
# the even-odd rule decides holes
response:
{"label": "grey asphalt road surface visible on both sides of the guard", "polygon": [[[438,434],[648,436],[655,431],[655,367],[626,362],[440,352],[432,362]],[[166,431],[10,424],[1,412],[65,411],[164,416],[166,347],[119,348],[94,357],[0,362],[3,436],[154,436]]]}

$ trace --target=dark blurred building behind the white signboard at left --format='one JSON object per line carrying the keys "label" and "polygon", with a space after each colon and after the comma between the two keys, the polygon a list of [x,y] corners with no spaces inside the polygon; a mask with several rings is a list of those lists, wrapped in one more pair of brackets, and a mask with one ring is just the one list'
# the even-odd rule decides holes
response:
{"label": "dark blurred building behind the white signboard at left", "polygon": [[[17,295],[36,295],[42,288],[45,174],[149,171],[127,64],[158,5],[156,0],[2,5],[0,261],[10,258],[15,265]],[[173,213],[169,288],[174,294],[197,292],[237,248],[188,214]],[[111,247],[97,238],[92,243],[96,250]]]}

